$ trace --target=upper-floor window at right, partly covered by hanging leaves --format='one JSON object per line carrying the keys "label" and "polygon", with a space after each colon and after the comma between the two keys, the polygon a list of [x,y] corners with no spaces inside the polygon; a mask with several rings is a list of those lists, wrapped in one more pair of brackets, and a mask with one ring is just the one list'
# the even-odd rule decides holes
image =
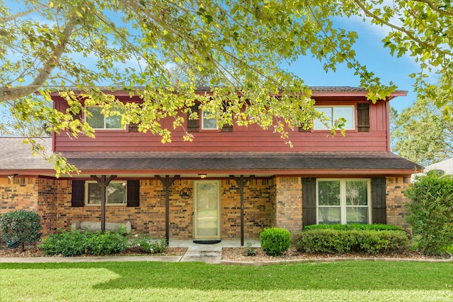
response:
{"label": "upper-floor window at right, partly covered by hanging leaves", "polygon": [[[343,117],[346,120],[345,130],[355,129],[354,106],[315,106],[315,109],[318,112],[322,112],[324,117],[328,118],[326,122],[329,127],[332,127],[336,120]],[[313,129],[328,130],[330,128],[326,127],[326,124],[321,122],[321,120],[316,119],[314,120]]]}

